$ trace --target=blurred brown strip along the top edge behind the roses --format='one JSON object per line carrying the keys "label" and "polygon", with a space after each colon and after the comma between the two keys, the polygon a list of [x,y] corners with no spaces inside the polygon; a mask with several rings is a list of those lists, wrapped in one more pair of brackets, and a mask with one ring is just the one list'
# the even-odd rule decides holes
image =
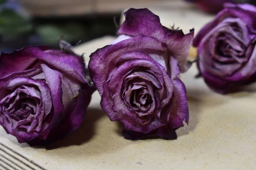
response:
{"label": "blurred brown strip along the top edge behind the roses", "polygon": [[127,7],[144,8],[167,0],[20,0],[32,16],[118,13]]}

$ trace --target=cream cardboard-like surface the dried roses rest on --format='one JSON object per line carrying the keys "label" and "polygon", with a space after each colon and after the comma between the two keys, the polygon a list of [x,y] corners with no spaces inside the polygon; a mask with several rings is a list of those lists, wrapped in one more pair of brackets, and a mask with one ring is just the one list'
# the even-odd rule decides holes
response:
{"label": "cream cardboard-like surface the dried roses rest on", "polygon": [[[76,52],[86,52],[88,62],[91,52],[112,40],[102,37],[80,45]],[[256,169],[256,93],[216,94],[203,79],[194,78],[197,73],[194,65],[181,76],[187,89],[190,121],[177,130],[177,140],[124,139],[122,127],[103,113],[95,92],[81,127],[48,150],[18,144],[0,128],[0,170],[9,165],[25,170]]]}

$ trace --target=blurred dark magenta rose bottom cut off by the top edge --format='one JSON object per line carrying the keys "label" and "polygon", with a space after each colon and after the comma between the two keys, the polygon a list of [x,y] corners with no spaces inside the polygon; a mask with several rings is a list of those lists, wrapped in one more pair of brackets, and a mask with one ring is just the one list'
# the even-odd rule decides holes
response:
{"label": "blurred dark magenta rose bottom cut off by the top edge", "polygon": [[186,0],[193,2],[202,11],[207,13],[217,13],[224,8],[224,3],[235,3],[235,0]]}

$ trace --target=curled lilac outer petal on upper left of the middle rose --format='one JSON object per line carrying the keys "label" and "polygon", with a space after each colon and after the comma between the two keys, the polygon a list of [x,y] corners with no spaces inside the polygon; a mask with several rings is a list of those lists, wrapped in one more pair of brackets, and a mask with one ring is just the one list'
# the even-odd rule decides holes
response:
{"label": "curled lilac outer petal on upper left of the middle rose", "polygon": [[163,44],[154,37],[146,37],[139,34],[136,37],[123,40],[117,44],[107,45],[92,53],[90,55],[88,68],[99,94],[102,95],[102,85],[111,77],[109,74],[115,67],[113,62],[115,62],[121,54],[129,51],[147,51],[148,49],[156,53],[157,51],[166,51]]}

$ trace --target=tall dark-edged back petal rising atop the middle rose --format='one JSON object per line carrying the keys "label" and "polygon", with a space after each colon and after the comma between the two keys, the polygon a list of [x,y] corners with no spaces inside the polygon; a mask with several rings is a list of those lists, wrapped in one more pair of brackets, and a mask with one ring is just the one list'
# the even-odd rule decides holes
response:
{"label": "tall dark-edged back petal rising atop the middle rose", "polygon": [[[125,12],[125,22],[120,27],[118,34],[128,36],[143,34],[155,37],[159,42],[164,43],[169,54],[178,61],[182,72],[188,69],[186,60],[193,41],[194,29],[185,35],[182,30],[173,30],[162,26],[160,18],[147,8],[130,8]],[[168,66],[167,70],[169,69]]]}

